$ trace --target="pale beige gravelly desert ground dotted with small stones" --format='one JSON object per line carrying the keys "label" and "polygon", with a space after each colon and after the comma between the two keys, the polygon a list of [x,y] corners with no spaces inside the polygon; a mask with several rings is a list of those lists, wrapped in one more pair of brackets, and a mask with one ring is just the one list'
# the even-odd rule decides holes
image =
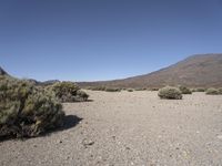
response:
{"label": "pale beige gravelly desert ground dotted with small stones", "polygon": [[222,165],[222,96],[93,92],[63,104],[62,129],[0,142],[1,166]]}

